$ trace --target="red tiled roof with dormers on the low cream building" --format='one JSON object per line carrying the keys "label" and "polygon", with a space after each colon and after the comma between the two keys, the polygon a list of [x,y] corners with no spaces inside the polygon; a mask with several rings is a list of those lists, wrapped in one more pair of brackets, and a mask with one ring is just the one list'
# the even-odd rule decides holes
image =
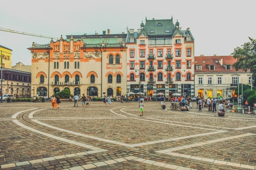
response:
{"label": "red tiled roof with dormers on the low cream building", "polygon": [[[222,65],[220,61],[222,59]],[[233,56],[195,56],[195,72],[244,72],[242,70],[236,71],[234,67],[231,66],[231,70],[226,70],[223,65],[232,65],[236,62]],[[205,62],[203,62],[205,61]],[[218,61],[218,62],[215,62]],[[196,63],[197,62],[197,63]],[[202,65],[202,70],[196,70],[196,65]],[[215,70],[210,70],[208,65],[214,65]]]}

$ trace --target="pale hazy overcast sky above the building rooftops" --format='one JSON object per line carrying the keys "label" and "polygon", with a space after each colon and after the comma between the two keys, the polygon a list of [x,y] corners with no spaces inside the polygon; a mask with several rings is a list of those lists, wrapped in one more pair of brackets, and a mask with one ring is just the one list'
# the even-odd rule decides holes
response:
{"label": "pale hazy overcast sky above the building rooftops", "polygon": [[[171,19],[182,30],[190,28],[195,56],[230,55],[234,48],[256,39],[254,0],[15,0],[1,1],[0,27],[15,31],[66,38],[84,33],[127,33],[148,20]],[[134,31],[135,31],[134,30]],[[50,39],[0,31],[0,45],[12,49],[12,66],[31,65],[32,43]]]}

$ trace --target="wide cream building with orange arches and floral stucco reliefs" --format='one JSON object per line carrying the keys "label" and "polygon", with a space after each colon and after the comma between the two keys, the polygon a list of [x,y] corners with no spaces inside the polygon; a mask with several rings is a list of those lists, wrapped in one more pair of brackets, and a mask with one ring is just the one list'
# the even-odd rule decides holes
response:
{"label": "wide cream building with orange arches and floral stucco reliefs", "polygon": [[39,95],[63,89],[71,94],[126,94],[127,34],[67,35],[46,45],[32,45],[32,84]]}

